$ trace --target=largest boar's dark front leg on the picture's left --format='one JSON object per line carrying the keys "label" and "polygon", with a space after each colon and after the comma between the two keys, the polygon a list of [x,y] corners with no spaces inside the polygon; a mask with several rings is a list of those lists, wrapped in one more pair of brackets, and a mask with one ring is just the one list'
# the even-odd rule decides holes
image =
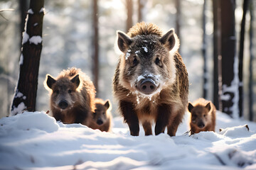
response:
{"label": "largest boar's dark front leg on the picture's left", "polygon": [[124,122],[129,125],[129,130],[132,136],[139,136],[139,119],[134,110],[132,102],[121,101],[119,107],[124,116]]}

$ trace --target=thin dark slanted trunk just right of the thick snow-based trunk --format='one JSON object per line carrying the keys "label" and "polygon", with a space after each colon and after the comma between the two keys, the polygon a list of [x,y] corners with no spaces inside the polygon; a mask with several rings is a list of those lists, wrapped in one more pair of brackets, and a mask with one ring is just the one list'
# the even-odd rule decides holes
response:
{"label": "thin dark slanted trunk just right of the thick snow-based trunk", "polygon": [[249,5],[249,0],[244,0],[243,13],[242,13],[242,23],[240,31],[240,49],[239,49],[239,64],[238,64],[238,77],[239,77],[239,116],[242,117],[242,101],[243,101],[243,89],[242,89],[242,64],[243,64],[243,50],[244,50],[244,40],[245,40],[245,16],[247,13],[247,8]]}

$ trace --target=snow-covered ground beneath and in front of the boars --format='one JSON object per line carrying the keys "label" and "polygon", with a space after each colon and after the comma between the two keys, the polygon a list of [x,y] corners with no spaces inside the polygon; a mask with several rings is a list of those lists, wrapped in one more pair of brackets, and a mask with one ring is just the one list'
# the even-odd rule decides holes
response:
{"label": "snow-covered ground beneath and in front of the boars", "polygon": [[187,113],[176,137],[132,137],[122,118],[100,132],[25,112],[0,119],[0,169],[256,169],[256,123],[217,119],[216,132],[189,136]]}

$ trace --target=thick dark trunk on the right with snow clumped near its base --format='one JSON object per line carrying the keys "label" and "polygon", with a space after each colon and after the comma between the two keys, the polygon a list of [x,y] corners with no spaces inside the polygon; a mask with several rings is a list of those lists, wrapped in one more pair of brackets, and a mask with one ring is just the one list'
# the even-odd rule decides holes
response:
{"label": "thick dark trunk on the right with snow clumped near its base", "polygon": [[220,6],[223,83],[221,101],[223,112],[232,118],[239,118],[238,57],[235,54],[235,0],[220,1]]}

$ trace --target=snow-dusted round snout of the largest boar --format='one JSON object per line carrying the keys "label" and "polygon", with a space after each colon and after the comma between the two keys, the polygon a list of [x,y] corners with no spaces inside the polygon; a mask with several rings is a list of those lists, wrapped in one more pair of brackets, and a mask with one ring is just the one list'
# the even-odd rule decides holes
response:
{"label": "snow-dusted round snout of the largest boar", "polygon": [[137,87],[143,94],[152,94],[156,90],[156,82],[151,78],[141,79]]}

